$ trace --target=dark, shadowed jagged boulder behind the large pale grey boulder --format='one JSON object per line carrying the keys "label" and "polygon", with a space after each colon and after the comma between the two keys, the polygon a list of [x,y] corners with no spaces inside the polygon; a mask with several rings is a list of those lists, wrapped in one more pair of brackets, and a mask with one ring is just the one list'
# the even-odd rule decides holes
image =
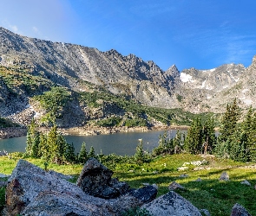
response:
{"label": "dark, shadowed jagged boulder behind the large pale grey boulder", "polygon": [[113,171],[106,168],[95,158],[90,158],[82,168],[77,180],[77,186],[81,187],[84,193],[101,197],[103,199],[114,199],[121,194],[128,192],[128,184],[111,180]]}

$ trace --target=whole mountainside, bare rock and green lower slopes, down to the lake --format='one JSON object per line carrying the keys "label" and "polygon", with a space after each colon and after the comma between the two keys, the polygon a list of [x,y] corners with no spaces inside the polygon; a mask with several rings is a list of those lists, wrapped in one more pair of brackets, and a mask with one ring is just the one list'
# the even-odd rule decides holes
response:
{"label": "whole mountainside, bare rock and green lower slopes, down to the lake", "polygon": [[[0,41],[0,116],[16,123],[28,124],[35,117],[48,124],[54,114],[61,126],[106,118],[122,125],[126,123],[120,118],[134,119],[137,125],[189,124],[191,117],[183,111],[221,112],[233,98],[243,109],[256,106],[255,57],[247,68],[228,64],[180,72],[172,66],[163,71],[134,54],[43,41],[3,28]],[[56,90],[67,95],[51,111],[39,95],[56,97]]]}

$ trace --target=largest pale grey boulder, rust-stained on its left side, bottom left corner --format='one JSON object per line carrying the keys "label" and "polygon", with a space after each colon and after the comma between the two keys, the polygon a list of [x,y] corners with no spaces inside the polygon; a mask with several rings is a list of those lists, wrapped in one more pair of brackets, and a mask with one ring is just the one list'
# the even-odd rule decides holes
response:
{"label": "largest pale grey boulder, rust-stained on its left side, bottom left corner", "polygon": [[[6,187],[3,215],[120,215],[141,206],[133,196],[104,200],[85,194],[80,187],[19,160]],[[47,206],[47,207],[46,207]],[[51,212],[52,211],[52,212]]]}

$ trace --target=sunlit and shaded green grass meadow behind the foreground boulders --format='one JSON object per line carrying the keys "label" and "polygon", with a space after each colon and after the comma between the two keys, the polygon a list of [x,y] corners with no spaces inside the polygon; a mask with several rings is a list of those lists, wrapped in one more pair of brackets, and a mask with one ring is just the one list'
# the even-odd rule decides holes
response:
{"label": "sunlit and shaded green grass meadow behind the foreground boulders", "polygon": [[[18,155],[11,160],[6,156],[0,157],[1,173],[11,174],[17,160]],[[181,196],[190,200],[199,209],[206,208],[211,215],[230,215],[236,202],[245,206],[252,215],[256,215],[256,206],[253,201],[256,199],[255,189],[253,188],[256,184],[256,172],[255,168],[246,168],[246,166],[253,165],[253,163],[207,157],[209,164],[201,170],[194,171],[194,167],[190,166],[187,171],[177,171],[177,168],[181,167],[184,162],[198,160],[203,160],[203,158],[186,154],[159,156],[150,162],[141,164],[119,160],[112,163],[111,169],[115,173],[114,177],[118,177],[120,181],[127,181],[130,187],[138,188],[146,182],[157,184],[159,187],[158,196],[166,194],[168,185],[172,181],[176,181],[187,188],[186,191],[178,191]],[[28,161],[43,168],[42,160],[28,159]],[[108,163],[111,164],[110,159]],[[82,164],[59,166],[50,163],[49,169],[63,174],[75,175],[77,178],[82,170]],[[223,171],[227,172],[230,181],[219,181],[220,174]],[[187,174],[188,177],[181,178],[181,174]],[[195,181],[198,178],[201,178],[202,181]],[[252,184],[252,187],[240,184],[240,181],[245,179]]]}

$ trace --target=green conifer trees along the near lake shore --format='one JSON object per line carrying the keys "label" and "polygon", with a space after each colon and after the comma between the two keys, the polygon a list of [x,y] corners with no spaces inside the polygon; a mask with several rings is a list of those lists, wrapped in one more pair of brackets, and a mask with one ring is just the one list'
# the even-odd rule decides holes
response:
{"label": "green conifer trees along the near lake shore", "polygon": [[[241,117],[241,109],[237,100],[234,99],[232,104],[226,105],[226,111],[220,118],[218,137],[214,130],[216,121],[213,117],[205,121],[195,118],[187,134],[178,130],[176,136],[170,138],[165,131],[159,136],[158,146],[151,153],[144,151],[141,140],[132,159],[134,162],[147,162],[150,157],[187,152],[214,154],[240,162],[254,162],[256,161],[256,114],[250,107],[246,118],[241,119]],[[56,124],[48,133],[43,134],[38,131],[35,120],[28,127],[25,156],[42,158],[45,162],[57,164],[84,163],[89,157],[97,157],[100,161],[103,159],[103,154],[95,156],[93,147],[87,152],[85,143],[82,143],[80,152],[75,154],[73,143],[67,143],[62,134],[57,131]],[[111,156],[114,155],[111,154]]]}

